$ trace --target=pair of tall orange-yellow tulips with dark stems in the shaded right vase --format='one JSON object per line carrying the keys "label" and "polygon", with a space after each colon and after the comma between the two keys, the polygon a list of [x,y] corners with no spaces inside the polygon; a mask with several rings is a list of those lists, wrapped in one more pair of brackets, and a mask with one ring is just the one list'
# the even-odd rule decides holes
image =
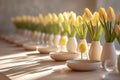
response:
{"label": "pair of tall orange-yellow tulips with dark stems in the shaded right vase", "polygon": [[100,15],[100,23],[105,31],[105,41],[106,42],[113,42],[115,40],[115,14],[112,7],[108,8],[108,12],[104,8],[100,8],[99,10]]}

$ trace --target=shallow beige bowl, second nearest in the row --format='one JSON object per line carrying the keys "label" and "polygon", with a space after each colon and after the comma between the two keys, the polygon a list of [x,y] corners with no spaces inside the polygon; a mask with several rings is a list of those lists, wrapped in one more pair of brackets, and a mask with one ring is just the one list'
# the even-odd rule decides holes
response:
{"label": "shallow beige bowl, second nearest in the row", "polygon": [[50,57],[55,61],[65,61],[75,59],[79,56],[78,53],[73,52],[51,52]]}

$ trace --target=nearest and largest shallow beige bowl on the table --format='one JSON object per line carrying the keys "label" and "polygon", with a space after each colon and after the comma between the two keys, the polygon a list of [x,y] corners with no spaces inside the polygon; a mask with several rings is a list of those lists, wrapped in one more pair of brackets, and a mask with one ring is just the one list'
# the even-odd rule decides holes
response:
{"label": "nearest and largest shallow beige bowl on the table", "polygon": [[101,62],[96,60],[67,60],[67,66],[75,71],[92,71],[100,68]]}

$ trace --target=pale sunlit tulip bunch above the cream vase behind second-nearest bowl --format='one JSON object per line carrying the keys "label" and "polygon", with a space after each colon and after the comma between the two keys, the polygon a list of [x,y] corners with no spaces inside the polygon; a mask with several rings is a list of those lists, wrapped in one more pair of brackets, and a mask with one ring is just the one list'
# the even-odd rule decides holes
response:
{"label": "pale sunlit tulip bunch above the cream vase behind second-nearest bowl", "polygon": [[64,12],[61,17],[63,17],[63,29],[62,35],[67,34],[68,37],[74,37],[76,35],[76,31],[73,27],[73,23],[76,20],[76,13],[74,12]]}

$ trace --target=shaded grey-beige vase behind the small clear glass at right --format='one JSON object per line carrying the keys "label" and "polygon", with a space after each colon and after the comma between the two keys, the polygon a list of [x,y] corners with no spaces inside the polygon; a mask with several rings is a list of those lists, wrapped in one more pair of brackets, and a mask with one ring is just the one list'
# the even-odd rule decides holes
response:
{"label": "shaded grey-beige vase behind the small clear glass at right", "polygon": [[116,49],[114,44],[111,43],[105,43],[103,46],[102,54],[101,54],[101,61],[102,61],[102,66],[104,67],[104,62],[106,60],[110,60],[112,65],[116,65],[116,60],[117,55],[116,55]]}

